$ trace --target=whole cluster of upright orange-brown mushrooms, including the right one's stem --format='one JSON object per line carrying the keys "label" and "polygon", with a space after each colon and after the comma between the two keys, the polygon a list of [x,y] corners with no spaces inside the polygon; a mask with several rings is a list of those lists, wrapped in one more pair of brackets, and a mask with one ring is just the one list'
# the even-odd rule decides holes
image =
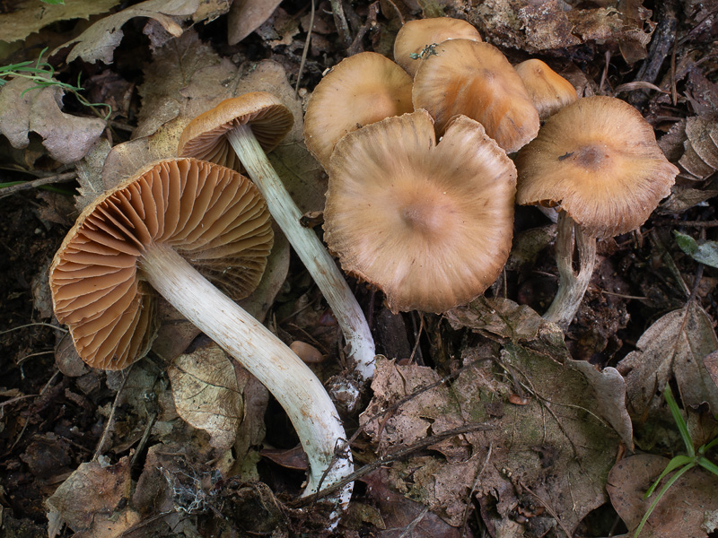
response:
{"label": "whole cluster of upright orange-brown mushrooms, including the right one's stem", "polygon": [[[381,65],[371,83],[355,67],[363,55]],[[518,152],[518,202],[559,210],[561,284],[545,317],[568,325],[596,239],[635,230],[669,194],[676,169],[651,126],[623,101],[579,100],[538,59],[512,67],[468,22],[407,22],[398,65],[375,56],[342,60],[307,108],[305,139],[329,175],[326,240],[342,267],[380,288],[392,311],[442,312],[483,293],[511,247],[515,171],[504,159]],[[483,168],[465,152],[481,155]]]}

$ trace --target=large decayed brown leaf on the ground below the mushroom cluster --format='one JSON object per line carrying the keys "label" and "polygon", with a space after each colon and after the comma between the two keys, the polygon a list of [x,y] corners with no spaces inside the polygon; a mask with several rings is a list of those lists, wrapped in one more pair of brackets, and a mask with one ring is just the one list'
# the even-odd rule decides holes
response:
{"label": "large decayed brown leaf on the ground below the mushroom cluster", "polygon": [[[493,428],[433,446],[442,456],[394,464],[394,489],[424,503],[451,525],[460,525],[475,486],[476,496],[491,499],[495,506],[498,519],[486,515],[490,525],[499,524],[520,501],[535,502],[528,489],[545,499],[571,531],[605,502],[604,485],[619,439],[600,419],[599,400],[582,374],[553,358],[560,358],[565,349],[561,351],[563,340],[554,340],[550,326],[547,332],[531,316],[506,324],[511,317],[497,309],[493,316],[490,309],[464,311],[453,323],[460,323],[460,317],[468,323],[472,316],[471,323],[508,331],[515,340],[495,337],[501,344],[485,341],[465,349],[464,369],[451,384],[436,386],[379,416],[401,398],[439,380],[433,369],[381,360],[372,383],[374,398],[361,417],[366,432],[375,449],[386,454],[429,434],[486,422]],[[556,331],[558,336],[560,330]],[[536,337],[521,341],[527,334]],[[511,403],[520,399],[525,404]],[[547,514],[538,519],[545,528],[556,525]]]}

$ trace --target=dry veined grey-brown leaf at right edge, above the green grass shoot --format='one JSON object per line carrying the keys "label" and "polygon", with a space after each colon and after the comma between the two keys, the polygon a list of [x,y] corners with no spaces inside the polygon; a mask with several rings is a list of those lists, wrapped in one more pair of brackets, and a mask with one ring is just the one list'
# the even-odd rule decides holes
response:
{"label": "dry veined grey-brown leaf at right edge, above the green grass shoot", "polygon": [[697,407],[707,402],[712,412],[718,412],[718,387],[703,364],[718,348],[718,338],[703,308],[692,301],[666,314],[645,331],[636,348],[617,365],[626,377],[633,416],[662,407],[671,378],[676,379],[683,404]]}

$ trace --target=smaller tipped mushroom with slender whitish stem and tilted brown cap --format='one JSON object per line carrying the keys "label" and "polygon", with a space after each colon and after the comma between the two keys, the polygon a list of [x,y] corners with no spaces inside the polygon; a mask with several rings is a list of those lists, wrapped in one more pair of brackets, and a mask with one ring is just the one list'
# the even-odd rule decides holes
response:
{"label": "smaller tipped mushroom with slender whitish stem and tilted brown cap", "polygon": [[374,341],[362,308],[316,233],[300,223],[302,212],[262,149],[276,145],[292,123],[291,112],[276,97],[247,93],[223,100],[193,119],[180,136],[178,154],[226,162],[236,156],[241,161],[267,200],[269,213],[327,299],[346,338],[349,356],[355,360],[355,371],[365,381],[374,373]]}

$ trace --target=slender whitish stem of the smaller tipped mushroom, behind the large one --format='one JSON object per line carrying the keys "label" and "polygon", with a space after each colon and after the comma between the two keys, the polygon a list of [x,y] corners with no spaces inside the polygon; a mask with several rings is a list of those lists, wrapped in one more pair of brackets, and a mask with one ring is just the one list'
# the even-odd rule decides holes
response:
{"label": "slender whitish stem of the smaller tipped mushroom, behind the large one", "polygon": [[302,226],[302,212],[286,192],[282,180],[267,160],[251,127],[237,126],[227,134],[234,152],[247,169],[259,192],[267,200],[269,213],[285,232],[297,256],[307,268],[314,282],[337,317],[349,347],[349,356],[356,362],[356,372],[362,380],[374,375],[374,340],[362,308],[356,301],[344,275],[329,256],[317,234]]}

